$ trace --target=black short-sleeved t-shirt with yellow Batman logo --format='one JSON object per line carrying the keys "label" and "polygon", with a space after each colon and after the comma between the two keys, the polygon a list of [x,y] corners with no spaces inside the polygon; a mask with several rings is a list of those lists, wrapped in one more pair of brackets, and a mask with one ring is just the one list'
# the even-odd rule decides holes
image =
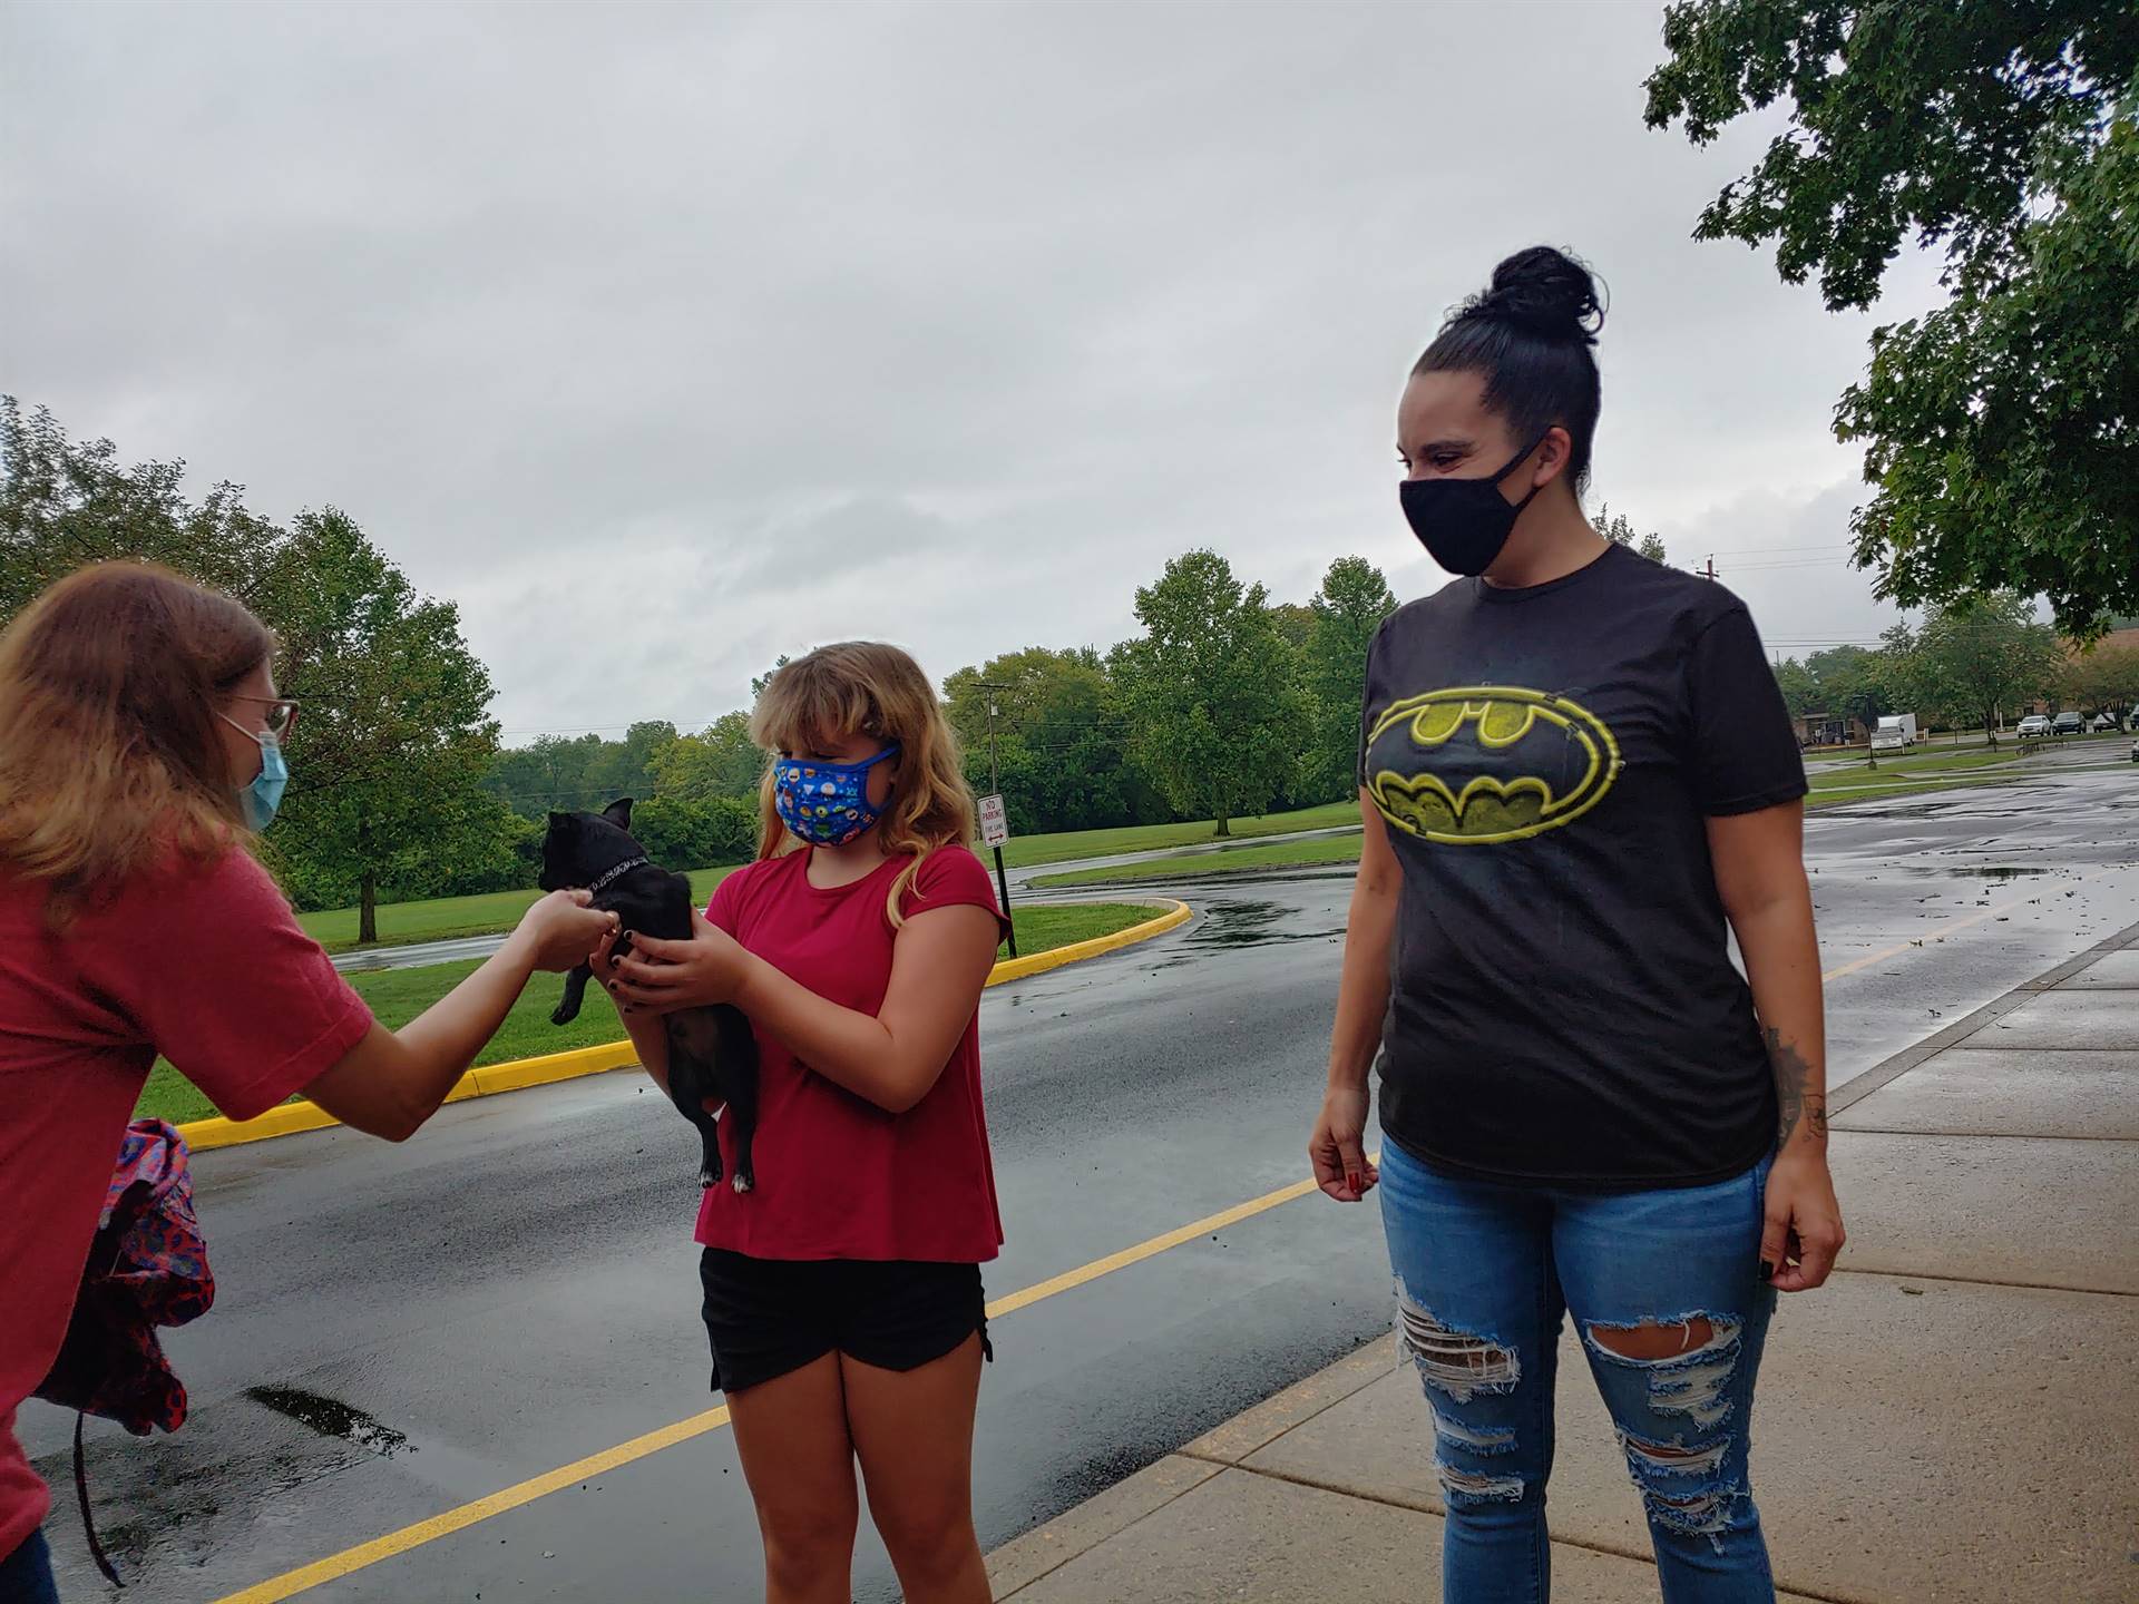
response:
{"label": "black short-sleeved t-shirt with yellow Batman logo", "polygon": [[1367,657],[1360,787],[1403,864],[1382,1129],[1457,1176],[1692,1187],[1775,1140],[1705,819],[1805,793],[1745,605],[1611,547],[1457,580]]}

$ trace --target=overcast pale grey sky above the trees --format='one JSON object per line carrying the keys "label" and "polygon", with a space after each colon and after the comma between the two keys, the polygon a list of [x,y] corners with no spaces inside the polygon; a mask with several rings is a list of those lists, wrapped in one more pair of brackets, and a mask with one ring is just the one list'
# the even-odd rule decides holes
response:
{"label": "overcast pale grey sky above the trees", "polygon": [[[1874,321],[1694,244],[1658,4],[0,4],[0,389],[460,603],[507,738],[1134,633],[1213,545],[1437,584],[1392,404],[1508,250],[1609,280],[1591,500],[1784,650],[1893,612]],[[1914,297],[1914,299],[1910,299]]]}

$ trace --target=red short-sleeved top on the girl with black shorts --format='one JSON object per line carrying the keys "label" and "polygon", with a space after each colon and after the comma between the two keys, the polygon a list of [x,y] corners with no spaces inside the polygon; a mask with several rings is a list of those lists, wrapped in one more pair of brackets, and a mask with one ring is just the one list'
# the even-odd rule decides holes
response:
{"label": "red short-sleeved top on the girl with black shorts", "polygon": [[[851,885],[809,883],[809,851],[740,868],[706,917],[826,1001],[875,1016],[892,982],[883,900],[907,858]],[[988,870],[965,847],[930,851],[905,894],[911,920],[971,903],[1001,917]],[[757,1189],[710,1187],[697,1240],[761,1260],[933,1260],[982,1264],[1003,1245],[980,1106],[980,1012],[943,1074],[905,1114],[888,1114],[813,1074],[757,1029]],[[721,1121],[721,1157],[734,1142]]]}

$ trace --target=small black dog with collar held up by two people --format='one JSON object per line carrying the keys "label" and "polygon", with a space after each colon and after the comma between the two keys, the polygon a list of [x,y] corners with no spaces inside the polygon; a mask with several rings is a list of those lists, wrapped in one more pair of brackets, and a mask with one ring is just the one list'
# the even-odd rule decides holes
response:
{"label": "small black dog with collar held up by two people", "polygon": [[[595,894],[595,907],[622,920],[614,956],[631,950],[633,935],[655,941],[691,939],[691,881],[646,860],[646,849],[631,838],[631,798],[612,802],[601,813],[552,813],[550,834],[541,843],[541,879],[545,892],[584,885]],[[565,1001],[550,1016],[552,1024],[578,1018],[580,1001],[593,969],[580,965],[565,975]],[[757,1183],[751,1168],[751,1138],[757,1133],[757,1042],[742,1009],[729,1003],[684,1007],[665,1014],[661,1024],[670,1042],[670,1101],[697,1125],[706,1146],[697,1185],[721,1178],[719,1125],[706,1112],[706,1097],[727,1104],[727,1121],[736,1131],[736,1191]]]}

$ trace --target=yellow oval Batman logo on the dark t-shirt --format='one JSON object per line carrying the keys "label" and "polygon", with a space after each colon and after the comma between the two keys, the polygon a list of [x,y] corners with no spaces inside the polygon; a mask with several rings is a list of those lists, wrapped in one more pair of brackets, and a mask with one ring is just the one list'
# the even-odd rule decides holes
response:
{"label": "yellow oval Batman logo on the dark t-shirt", "polygon": [[1549,691],[1474,684],[1392,701],[1367,729],[1367,793],[1397,830],[1457,847],[1574,823],[1619,778],[1619,742]]}

